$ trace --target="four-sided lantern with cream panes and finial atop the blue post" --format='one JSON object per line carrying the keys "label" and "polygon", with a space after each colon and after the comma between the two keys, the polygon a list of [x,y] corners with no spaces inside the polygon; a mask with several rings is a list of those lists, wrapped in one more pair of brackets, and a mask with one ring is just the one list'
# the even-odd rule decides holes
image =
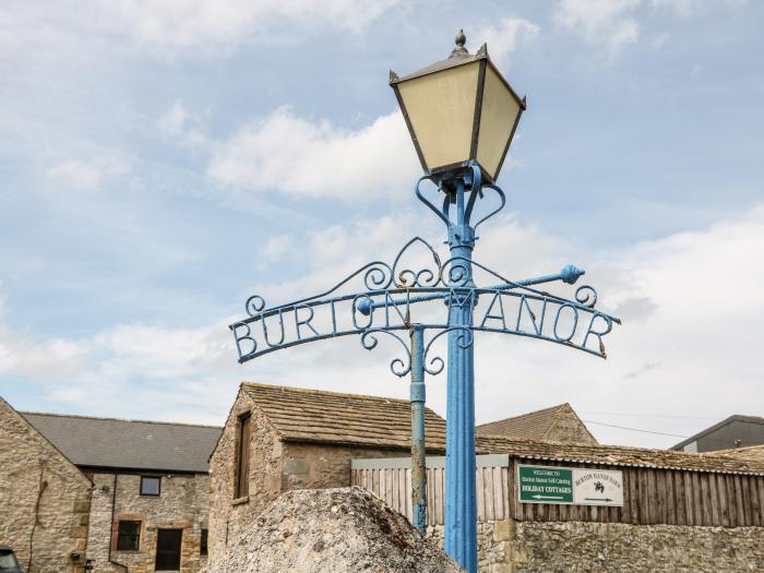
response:
{"label": "four-sided lantern with cream panes and finial atop the blue post", "polygon": [[520,98],[488,57],[484,44],[475,55],[456,47],[445,60],[398,77],[390,72],[401,111],[428,175],[444,174],[469,162],[493,182],[504,163],[525,98]]}

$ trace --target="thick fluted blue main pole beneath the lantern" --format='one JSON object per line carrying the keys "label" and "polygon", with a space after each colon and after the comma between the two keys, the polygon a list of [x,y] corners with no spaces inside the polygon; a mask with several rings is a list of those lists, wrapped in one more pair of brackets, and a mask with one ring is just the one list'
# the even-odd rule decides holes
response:
{"label": "thick fluted blue main pole beneath the lantern", "polygon": [[[475,230],[465,218],[464,180],[455,181],[456,225],[449,228],[451,255],[464,261],[465,286],[471,287]],[[447,300],[449,326],[473,324],[474,299],[467,288]],[[449,382],[445,416],[445,552],[468,573],[477,573],[477,506],[475,501],[475,362],[468,333],[449,333]]]}

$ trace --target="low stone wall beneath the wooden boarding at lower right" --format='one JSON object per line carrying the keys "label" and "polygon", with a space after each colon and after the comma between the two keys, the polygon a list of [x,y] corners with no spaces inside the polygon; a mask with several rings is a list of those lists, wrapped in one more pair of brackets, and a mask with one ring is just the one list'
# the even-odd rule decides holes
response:
{"label": "low stone wall beneath the wooden boarding at lower right", "polygon": [[[443,527],[428,528],[442,545]],[[481,573],[764,571],[764,528],[583,522],[478,524]]]}

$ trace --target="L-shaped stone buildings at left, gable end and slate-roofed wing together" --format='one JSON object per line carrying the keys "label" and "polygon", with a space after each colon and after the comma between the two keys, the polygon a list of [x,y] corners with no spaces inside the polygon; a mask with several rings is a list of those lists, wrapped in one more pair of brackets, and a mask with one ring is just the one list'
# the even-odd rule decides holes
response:
{"label": "L-shaped stone buildings at left, gable end and slate-roofed wing together", "polygon": [[208,456],[219,435],[0,402],[0,545],[28,573],[79,573],[86,561],[96,572],[204,571]]}

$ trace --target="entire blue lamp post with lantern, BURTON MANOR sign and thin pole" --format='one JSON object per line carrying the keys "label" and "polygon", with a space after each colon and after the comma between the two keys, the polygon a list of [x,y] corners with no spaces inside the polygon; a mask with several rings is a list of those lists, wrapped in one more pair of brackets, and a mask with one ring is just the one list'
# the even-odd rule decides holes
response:
{"label": "entire blue lamp post with lantern, BURTON MANOR sign and thin pole", "polygon": [[[575,284],[584,271],[573,265],[556,274],[512,280],[473,259],[476,230],[505,204],[504,192],[494,181],[525,98],[502,77],[485,45],[470,55],[465,43],[459,32],[447,59],[404,77],[390,73],[426,172],[417,182],[416,195],[445,225],[450,258],[442,261],[430,243],[415,237],[392,263],[369,262],[318,295],[275,307],[253,295],[247,299],[247,317],[229,327],[241,363],[350,335],[359,335],[368,350],[377,347],[381,335],[401,345],[403,358],[390,366],[396,377],[410,374],[411,379],[413,521],[421,530],[427,523],[425,374],[443,370],[445,362],[431,356],[430,349],[440,336],[447,335],[445,550],[468,573],[475,573],[474,334],[530,337],[606,358],[602,339],[620,321],[596,308],[597,293],[588,285],[580,286],[573,299],[535,288],[556,282]],[[421,192],[425,180],[439,189],[440,208]],[[499,198],[499,205],[475,222],[475,207],[487,192]],[[427,253],[423,266],[404,263],[414,248]],[[486,277],[488,285],[476,284]],[[445,303],[447,320],[415,320],[414,309],[428,301]],[[408,333],[408,343],[401,332]],[[431,333],[429,342],[426,333]]]}

